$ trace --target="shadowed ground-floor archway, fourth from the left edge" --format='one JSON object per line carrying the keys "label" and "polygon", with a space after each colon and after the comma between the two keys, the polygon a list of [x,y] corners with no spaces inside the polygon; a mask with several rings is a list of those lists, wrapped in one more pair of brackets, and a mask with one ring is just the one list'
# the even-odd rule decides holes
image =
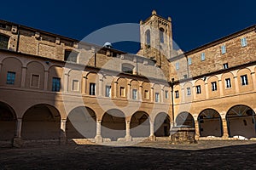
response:
{"label": "shadowed ground-floor archway, fourth from the left edge", "polygon": [[102,117],[102,138],[117,140],[125,138],[125,114],[117,109],[104,113]]}

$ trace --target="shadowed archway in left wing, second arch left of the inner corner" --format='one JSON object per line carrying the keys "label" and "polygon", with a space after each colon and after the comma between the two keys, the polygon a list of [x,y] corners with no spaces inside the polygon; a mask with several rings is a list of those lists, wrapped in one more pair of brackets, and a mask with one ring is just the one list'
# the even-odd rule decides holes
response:
{"label": "shadowed archway in left wing, second arch left of the inner corner", "polygon": [[149,116],[137,111],[131,116],[131,137],[148,137],[150,134]]}

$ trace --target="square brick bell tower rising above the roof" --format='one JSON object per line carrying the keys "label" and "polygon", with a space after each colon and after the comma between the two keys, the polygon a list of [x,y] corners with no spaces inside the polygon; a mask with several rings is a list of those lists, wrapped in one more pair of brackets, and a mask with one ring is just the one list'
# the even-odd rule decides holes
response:
{"label": "square brick bell tower rising above the roof", "polygon": [[161,67],[166,59],[170,59],[172,52],[172,20],[162,18],[153,10],[147,20],[140,21],[141,49],[138,55],[154,59]]}

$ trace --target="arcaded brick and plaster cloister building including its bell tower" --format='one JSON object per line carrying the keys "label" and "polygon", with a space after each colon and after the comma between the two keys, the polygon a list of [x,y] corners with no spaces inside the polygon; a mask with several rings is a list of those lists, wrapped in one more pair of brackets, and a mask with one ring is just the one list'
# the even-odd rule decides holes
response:
{"label": "arcaded brick and plaster cloister building including its bell tower", "polygon": [[253,139],[255,26],[184,54],[172,20],[140,22],[137,54],[0,21],[0,141]]}

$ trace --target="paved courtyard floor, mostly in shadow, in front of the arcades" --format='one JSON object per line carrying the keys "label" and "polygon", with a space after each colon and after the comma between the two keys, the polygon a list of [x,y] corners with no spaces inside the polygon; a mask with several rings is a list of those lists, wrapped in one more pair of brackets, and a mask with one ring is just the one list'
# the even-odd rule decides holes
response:
{"label": "paved courtyard floor, mostly in shadow, in front of the arcades", "polygon": [[255,169],[256,141],[1,148],[0,169]]}

